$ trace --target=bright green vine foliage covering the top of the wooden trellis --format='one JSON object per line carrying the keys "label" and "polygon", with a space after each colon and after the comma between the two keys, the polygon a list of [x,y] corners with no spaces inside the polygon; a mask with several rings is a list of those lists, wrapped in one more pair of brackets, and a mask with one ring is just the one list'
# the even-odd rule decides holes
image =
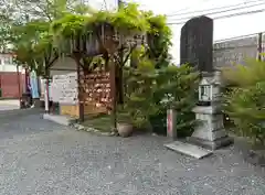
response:
{"label": "bright green vine foliage covering the top of the wooden trellis", "polygon": [[144,13],[138,10],[138,6],[128,3],[115,12],[95,11],[88,15],[67,13],[62,19],[53,21],[51,30],[55,34],[68,37],[70,35],[87,34],[103,24],[110,24],[119,32],[126,33],[131,31],[145,32],[149,29],[149,24]]}

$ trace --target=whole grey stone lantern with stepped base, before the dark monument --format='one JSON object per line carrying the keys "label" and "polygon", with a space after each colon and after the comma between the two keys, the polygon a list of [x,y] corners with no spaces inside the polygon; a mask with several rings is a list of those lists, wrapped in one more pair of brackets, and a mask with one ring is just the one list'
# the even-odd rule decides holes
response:
{"label": "whole grey stone lantern with stepped base, before the dark monument", "polygon": [[223,126],[220,87],[219,72],[202,77],[199,84],[199,105],[193,108],[199,124],[189,138],[189,141],[211,150],[231,143]]}

